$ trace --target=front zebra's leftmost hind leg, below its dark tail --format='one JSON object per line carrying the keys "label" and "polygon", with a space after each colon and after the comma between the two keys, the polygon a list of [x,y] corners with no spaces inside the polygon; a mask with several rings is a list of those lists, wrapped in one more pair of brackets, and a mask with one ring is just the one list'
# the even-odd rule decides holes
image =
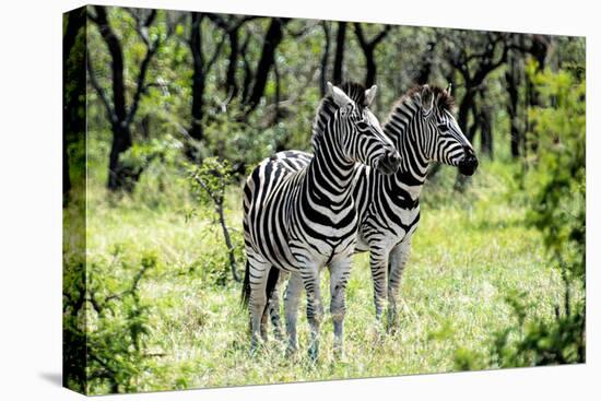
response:
{"label": "front zebra's leftmost hind leg, below its dark tail", "polygon": [[248,252],[247,256],[250,264],[250,296],[248,299],[251,327],[250,351],[255,353],[264,333],[263,323],[267,320],[263,318],[267,305],[266,287],[271,264],[257,257],[251,257]]}

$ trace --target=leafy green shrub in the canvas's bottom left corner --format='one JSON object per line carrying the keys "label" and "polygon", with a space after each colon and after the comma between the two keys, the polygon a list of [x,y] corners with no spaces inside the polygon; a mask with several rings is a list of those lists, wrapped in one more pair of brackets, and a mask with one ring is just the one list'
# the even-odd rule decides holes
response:
{"label": "leafy green shrub in the canvas's bottom left corner", "polygon": [[[125,252],[115,246],[108,264],[91,262],[85,272],[81,260],[64,266],[63,352],[73,364],[68,373],[76,373],[66,377],[66,384],[86,394],[135,391],[149,366],[152,311],[140,295],[140,283],[156,268],[157,259],[149,252],[139,264],[130,264]],[[81,278],[86,278],[85,285]],[[81,364],[81,371],[75,364]]]}

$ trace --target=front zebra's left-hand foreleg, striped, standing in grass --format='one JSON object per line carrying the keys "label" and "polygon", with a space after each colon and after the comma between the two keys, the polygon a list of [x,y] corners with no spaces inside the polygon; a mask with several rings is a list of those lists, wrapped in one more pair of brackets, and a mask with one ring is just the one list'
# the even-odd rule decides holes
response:
{"label": "front zebra's left-hand foreleg, striped, standing in grass", "polygon": [[319,268],[308,266],[300,269],[303,284],[307,293],[307,320],[310,328],[309,357],[313,361],[319,355],[319,327],[323,318],[323,305],[321,304],[321,292],[319,290]]}

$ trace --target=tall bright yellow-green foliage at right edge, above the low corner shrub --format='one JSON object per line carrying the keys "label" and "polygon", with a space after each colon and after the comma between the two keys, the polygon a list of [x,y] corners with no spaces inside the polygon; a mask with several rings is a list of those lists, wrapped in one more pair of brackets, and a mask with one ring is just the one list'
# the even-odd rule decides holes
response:
{"label": "tall bright yellow-green foliage at right edge, above the low corner shrub", "polygon": [[547,106],[530,110],[544,152],[531,175],[537,188],[529,221],[544,236],[553,262],[582,280],[586,247],[586,83],[569,72],[534,75]]}

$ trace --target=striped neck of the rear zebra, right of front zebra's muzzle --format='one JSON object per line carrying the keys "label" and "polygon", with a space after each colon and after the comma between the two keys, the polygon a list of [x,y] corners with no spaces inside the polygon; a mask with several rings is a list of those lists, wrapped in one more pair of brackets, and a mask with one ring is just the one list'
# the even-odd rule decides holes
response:
{"label": "striped neck of the rear zebra, right of front zebra's muzzle", "polygon": [[399,170],[390,180],[394,187],[401,187],[409,192],[413,200],[420,197],[429,167],[429,160],[421,141],[424,126],[420,110],[420,106],[408,99],[394,108],[382,127],[385,134],[401,155]]}

